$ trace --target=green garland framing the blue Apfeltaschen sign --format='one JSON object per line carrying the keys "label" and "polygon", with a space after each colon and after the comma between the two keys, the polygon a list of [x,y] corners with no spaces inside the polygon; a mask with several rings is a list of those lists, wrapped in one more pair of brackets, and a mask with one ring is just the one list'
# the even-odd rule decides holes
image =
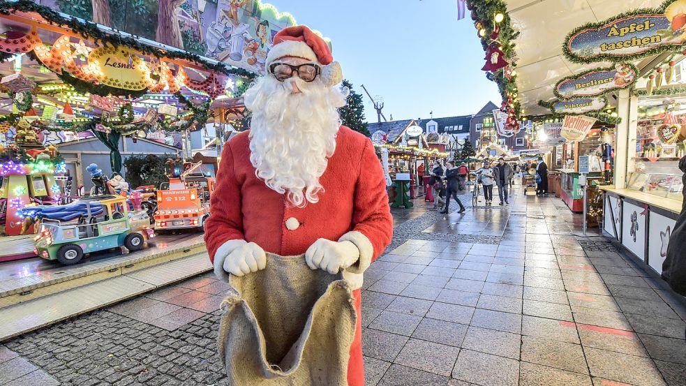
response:
{"label": "green garland framing the blue Apfeltaschen sign", "polygon": [[637,16],[637,15],[661,15],[664,13],[666,8],[673,3],[674,1],[677,0],[666,0],[662,5],[660,5],[657,8],[639,8],[635,10],[629,10],[625,13],[620,13],[619,15],[615,15],[613,17],[610,17],[609,19],[602,20],[601,22],[597,23],[588,23],[588,24],[583,24],[580,27],[576,27],[573,29],[569,34],[567,34],[567,37],[565,40],[562,42],[562,53],[565,54],[565,57],[574,63],[595,63],[598,61],[638,61],[639,59],[643,59],[645,57],[651,57],[653,55],[657,54],[662,54],[663,52],[676,52],[676,51],[683,51],[686,48],[686,41],[682,43],[681,45],[660,45],[658,47],[654,47],[646,52],[641,52],[640,54],[631,54],[631,55],[626,55],[622,57],[618,57],[616,55],[610,55],[610,54],[597,54],[593,57],[587,57],[587,58],[582,58],[582,57],[577,57],[572,53],[571,50],[569,50],[569,40],[572,39],[572,36],[579,34],[579,32],[583,31],[584,29],[599,29],[602,28],[608,24],[611,24],[615,20],[620,20],[625,17],[631,17],[631,16]]}

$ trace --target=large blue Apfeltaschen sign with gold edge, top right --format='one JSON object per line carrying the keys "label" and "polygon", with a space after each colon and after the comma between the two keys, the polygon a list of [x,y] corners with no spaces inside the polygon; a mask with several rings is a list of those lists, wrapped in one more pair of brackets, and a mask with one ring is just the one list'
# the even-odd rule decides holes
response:
{"label": "large blue Apfeltaschen sign with gold edge, top right", "polygon": [[648,56],[686,42],[686,0],[667,1],[657,9],[639,9],[576,29],[565,53],[579,61]]}

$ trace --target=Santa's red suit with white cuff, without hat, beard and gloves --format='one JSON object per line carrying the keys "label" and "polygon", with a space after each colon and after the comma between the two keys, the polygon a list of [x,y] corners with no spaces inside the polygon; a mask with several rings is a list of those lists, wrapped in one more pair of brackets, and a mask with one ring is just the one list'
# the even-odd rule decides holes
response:
{"label": "Santa's red suit with white cuff, without hat, beard and gloves", "polygon": [[[278,255],[301,255],[317,239],[348,240],[360,251],[357,265],[344,273],[355,289],[357,331],[350,349],[348,382],[364,385],[361,356],[362,273],[390,244],[393,220],[386,180],[371,140],[341,126],[336,151],[320,177],[319,202],[293,207],[255,175],[248,133],[229,140],[217,171],[211,216],[205,222],[210,259],[225,242],[244,239]],[[303,160],[307,162],[307,160]]]}

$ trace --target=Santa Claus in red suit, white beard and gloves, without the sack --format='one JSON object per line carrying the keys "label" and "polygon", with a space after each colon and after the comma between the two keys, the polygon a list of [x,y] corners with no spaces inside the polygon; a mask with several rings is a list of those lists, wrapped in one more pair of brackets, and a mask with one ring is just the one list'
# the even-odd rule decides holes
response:
{"label": "Santa Claus in red suit, white beard and gloves, without the sack", "polygon": [[364,385],[359,288],[393,229],[384,172],[371,140],[341,126],[343,75],[325,40],[283,29],[266,68],[245,94],[251,130],[222,152],[205,223],[210,259],[220,277],[264,269],[265,253],[343,272],[357,311],[348,384]]}

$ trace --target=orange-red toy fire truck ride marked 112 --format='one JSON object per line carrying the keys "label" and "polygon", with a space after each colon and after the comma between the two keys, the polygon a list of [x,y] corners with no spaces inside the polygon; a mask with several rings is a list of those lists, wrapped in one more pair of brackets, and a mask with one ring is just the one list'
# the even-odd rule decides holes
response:
{"label": "orange-red toy fire truck ride marked 112", "polygon": [[155,229],[201,228],[209,216],[209,196],[214,179],[197,170],[196,163],[185,172],[169,179],[169,188],[157,191]]}

